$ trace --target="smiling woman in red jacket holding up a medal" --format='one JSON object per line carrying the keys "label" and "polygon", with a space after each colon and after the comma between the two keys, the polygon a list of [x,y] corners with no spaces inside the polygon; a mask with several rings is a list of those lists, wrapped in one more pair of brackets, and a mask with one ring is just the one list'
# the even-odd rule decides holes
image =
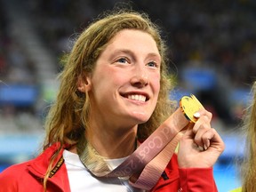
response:
{"label": "smiling woman in red jacket holding up a medal", "polygon": [[[120,10],[95,20],[60,74],[44,152],[3,172],[0,191],[145,191],[94,171],[104,164],[115,169],[174,111],[166,65],[164,40],[146,14]],[[212,114],[202,108],[196,115],[152,191],[217,191],[212,165],[224,143]]]}

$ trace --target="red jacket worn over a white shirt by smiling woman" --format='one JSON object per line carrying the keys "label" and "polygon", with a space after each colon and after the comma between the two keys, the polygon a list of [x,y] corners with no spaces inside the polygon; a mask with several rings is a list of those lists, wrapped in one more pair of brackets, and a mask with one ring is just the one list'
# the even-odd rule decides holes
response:
{"label": "red jacket worn over a white shirt by smiling woman", "polygon": [[[40,192],[44,191],[44,173],[54,151],[59,144],[47,148],[44,153],[23,164],[14,164],[0,174],[0,192]],[[48,192],[70,192],[68,172],[60,155],[52,167],[52,177],[47,182]],[[218,191],[213,179],[212,168],[179,169],[177,156],[173,155],[163,175],[152,189],[155,192],[215,192]]]}

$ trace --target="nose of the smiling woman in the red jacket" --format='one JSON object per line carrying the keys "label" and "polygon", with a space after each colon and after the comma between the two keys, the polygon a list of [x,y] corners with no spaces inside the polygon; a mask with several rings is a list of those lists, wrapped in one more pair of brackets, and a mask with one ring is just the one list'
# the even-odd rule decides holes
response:
{"label": "nose of the smiling woman in the red jacket", "polygon": [[138,67],[133,73],[131,84],[136,87],[144,87],[149,84],[148,71],[143,67]]}

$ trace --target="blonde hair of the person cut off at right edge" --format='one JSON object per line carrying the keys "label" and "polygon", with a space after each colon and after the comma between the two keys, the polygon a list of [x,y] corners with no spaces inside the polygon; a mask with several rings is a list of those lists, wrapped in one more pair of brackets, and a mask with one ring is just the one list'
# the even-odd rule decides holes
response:
{"label": "blonde hair of the person cut off at right edge", "polygon": [[242,164],[242,191],[256,191],[256,81],[252,84],[252,102],[244,116],[245,154]]}

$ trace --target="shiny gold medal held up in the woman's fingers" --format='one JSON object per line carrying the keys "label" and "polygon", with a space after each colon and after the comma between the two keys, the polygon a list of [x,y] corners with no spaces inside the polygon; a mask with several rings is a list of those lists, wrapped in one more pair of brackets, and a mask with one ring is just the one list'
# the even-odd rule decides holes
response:
{"label": "shiny gold medal held up in the woman's fingers", "polygon": [[190,97],[184,96],[180,100],[180,108],[189,121],[196,123],[197,118],[194,114],[200,109],[204,108],[195,95],[191,94]]}

